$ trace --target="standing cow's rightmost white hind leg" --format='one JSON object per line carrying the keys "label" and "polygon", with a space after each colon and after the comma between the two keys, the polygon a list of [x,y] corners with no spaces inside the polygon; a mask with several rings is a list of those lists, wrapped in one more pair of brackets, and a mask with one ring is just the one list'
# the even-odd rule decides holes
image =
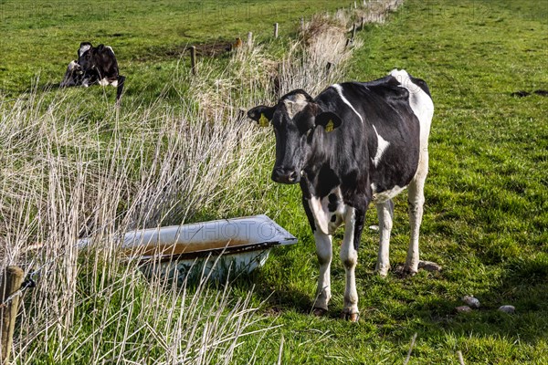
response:
{"label": "standing cow's rightmost white hind leg", "polygon": [[420,224],[422,223],[423,205],[425,203],[425,182],[428,173],[428,155],[423,152],[415,178],[409,184],[409,224],[411,226],[411,235],[409,248],[407,250],[406,266],[404,271],[407,274],[415,275],[418,271],[418,235]]}

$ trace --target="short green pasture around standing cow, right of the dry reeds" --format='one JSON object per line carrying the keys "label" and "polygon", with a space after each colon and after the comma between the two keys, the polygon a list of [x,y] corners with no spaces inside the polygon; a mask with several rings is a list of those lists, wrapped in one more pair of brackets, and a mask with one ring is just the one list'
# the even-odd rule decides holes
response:
{"label": "short green pasture around standing cow, right of the dry reeds", "polygon": [[[275,323],[284,325],[287,363],[399,363],[415,332],[415,363],[457,363],[458,349],[467,363],[548,361],[548,99],[510,95],[548,89],[546,7],[534,0],[420,3],[409,1],[390,24],[362,33],[349,78],[406,68],[430,85],[437,111],[421,251],[444,271],[373,276],[377,236],[368,232],[357,268],[360,323],[337,318],[337,255],[330,317],[309,317],[313,241],[298,190],[279,188],[279,222],[301,243],[276,255],[256,284],[265,297],[276,290],[269,302],[281,309]],[[404,262],[408,239],[405,194],[395,203],[393,266]],[[375,221],[370,211],[367,225]],[[479,297],[482,308],[457,315],[464,295]],[[517,313],[497,312],[503,304]],[[276,352],[279,339],[271,341]]]}

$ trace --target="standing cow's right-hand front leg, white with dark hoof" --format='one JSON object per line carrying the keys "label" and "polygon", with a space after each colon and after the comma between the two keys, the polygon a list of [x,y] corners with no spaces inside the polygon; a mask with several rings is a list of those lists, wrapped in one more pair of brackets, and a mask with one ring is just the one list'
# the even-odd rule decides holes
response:
{"label": "standing cow's right-hand front leg, white with dark hoof", "polygon": [[344,216],[344,238],[342,239],[341,246],[341,260],[346,273],[346,286],[344,289],[342,316],[353,322],[360,318],[355,268],[358,263],[360,237],[364,229],[364,216],[364,211],[354,209],[351,206],[347,207]]}

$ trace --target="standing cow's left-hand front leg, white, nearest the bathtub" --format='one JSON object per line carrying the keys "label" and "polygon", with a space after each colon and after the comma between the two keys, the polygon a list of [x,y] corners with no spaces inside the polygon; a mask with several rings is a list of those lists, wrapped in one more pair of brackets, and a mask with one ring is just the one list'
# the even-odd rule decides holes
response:
{"label": "standing cow's left-hand front leg, white, nearest the bathtub", "polygon": [[327,310],[331,299],[331,262],[332,262],[332,236],[324,235],[320,231],[314,231],[316,241],[316,255],[320,263],[320,276],[318,277],[317,299],[314,308]]}

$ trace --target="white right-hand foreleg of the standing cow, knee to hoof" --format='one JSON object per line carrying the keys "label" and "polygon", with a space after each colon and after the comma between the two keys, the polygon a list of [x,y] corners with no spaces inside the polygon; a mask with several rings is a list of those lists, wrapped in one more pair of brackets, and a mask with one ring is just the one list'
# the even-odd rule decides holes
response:
{"label": "white right-hand foreleg of the standing cow, knee to hoof", "polygon": [[[346,286],[344,288],[344,314],[352,315],[359,313],[358,310],[358,292],[356,291],[355,267],[358,263],[358,252],[353,246],[355,224],[355,211],[352,207],[347,207],[344,215],[344,238],[341,246],[341,260],[346,272]],[[357,318],[356,318],[357,319]]]}

